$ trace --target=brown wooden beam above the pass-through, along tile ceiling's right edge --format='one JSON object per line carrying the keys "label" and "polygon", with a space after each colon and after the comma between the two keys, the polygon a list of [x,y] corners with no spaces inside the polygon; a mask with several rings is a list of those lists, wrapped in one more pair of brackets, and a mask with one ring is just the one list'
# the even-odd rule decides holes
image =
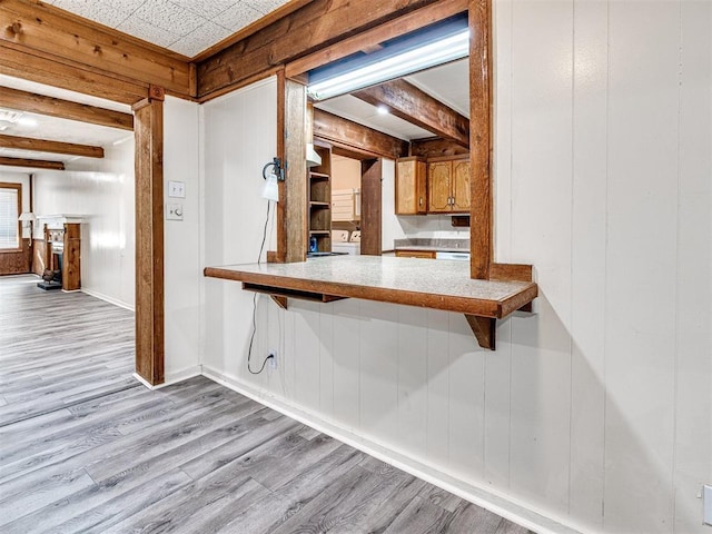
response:
{"label": "brown wooden beam above the pass-through, along tile ceiling's right edge", "polygon": [[[204,98],[225,87],[239,85],[268,68],[285,65],[433,3],[438,0],[314,0],[198,63],[198,96]],[[426,19],[421,20],[421,26],[425,23]]]}

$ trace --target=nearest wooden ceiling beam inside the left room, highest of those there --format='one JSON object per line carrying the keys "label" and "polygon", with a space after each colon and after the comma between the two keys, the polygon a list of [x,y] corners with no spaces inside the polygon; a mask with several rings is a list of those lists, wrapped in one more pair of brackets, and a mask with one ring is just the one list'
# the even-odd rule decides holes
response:
{"label": "nearest wooden ceiling beam inside the left room, highest of those there", "polygon": [[34,92],[20,91],[9,87],[0,87],[0,106],[60,119],[134,130],[134,116],[131,113],[97,108],[87,103],[71,102]]}

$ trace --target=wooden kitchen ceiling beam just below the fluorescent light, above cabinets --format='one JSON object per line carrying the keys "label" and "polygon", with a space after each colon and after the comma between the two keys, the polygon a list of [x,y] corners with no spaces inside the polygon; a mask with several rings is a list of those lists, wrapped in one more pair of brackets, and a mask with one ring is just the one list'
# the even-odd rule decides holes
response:
{"label": "wooden kitchen ceiling beam just below the fluorescent light, above cabinets", "polygon": [[469,147],[469,119],[403,79],[352,95],[372,106],[385,106],[392,115],[412,125]]}

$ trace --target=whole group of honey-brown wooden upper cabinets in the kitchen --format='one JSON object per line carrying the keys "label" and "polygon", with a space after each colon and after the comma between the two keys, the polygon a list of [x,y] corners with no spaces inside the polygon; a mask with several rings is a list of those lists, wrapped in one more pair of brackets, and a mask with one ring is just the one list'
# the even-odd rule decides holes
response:
{"label": "whole group of honey-brown wooden upper cabinets in the kitchen", "polygon": [[469,212],[469,156],[396,164],[396,215]]}

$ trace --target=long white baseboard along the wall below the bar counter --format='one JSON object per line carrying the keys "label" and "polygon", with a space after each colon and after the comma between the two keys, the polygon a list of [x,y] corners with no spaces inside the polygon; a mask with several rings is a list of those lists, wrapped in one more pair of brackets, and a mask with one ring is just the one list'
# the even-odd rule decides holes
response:
{"label": "long white baseboard along the wall below the bar counter", "polygon": [[202,375],[218,384],[221,384],[253,400],[273,408],[287,417],[298,421],[312,428],[327,434],[354,448],[357,448],[370,456],[374,456],[387,464],[393,465],[406,473],[412,474],[425,482],[438,486],[458,497],[476,504],[505,520],[510,520],[518,525],[540,534],[581,534],[581,531],[567,526],[563,521],[555,521],[531,510],[522,503],[517,503],[511,497],[492,492],[488,488],[475,486],[463,482],[453,475],[445,473],[437,467],[421,463],[403,453],[399,453],[383,444],[364,438],[347,428],[339,427],[324,421],[310,412],[291,406],[284,400],[256,390],[244,382],[224,375],[208,366],[202,366]]}

